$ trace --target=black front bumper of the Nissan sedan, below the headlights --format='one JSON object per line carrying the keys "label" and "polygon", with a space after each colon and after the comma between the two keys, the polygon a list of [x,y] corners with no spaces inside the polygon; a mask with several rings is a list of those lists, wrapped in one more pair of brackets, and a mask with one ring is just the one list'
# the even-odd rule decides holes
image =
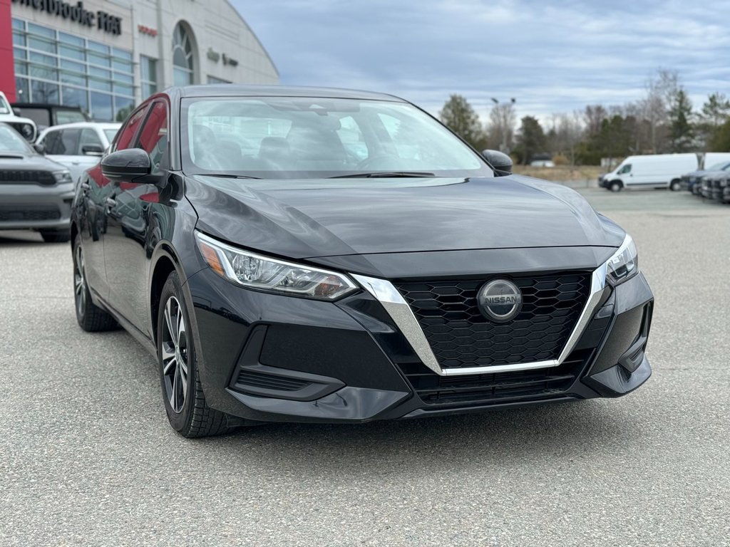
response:
{"label": "black front bumper of the Nissan sedan, below the headlights", "polygon": [[651,373],[653,295],[640,273],[604,292],[561,365],[456,379],[429,371],[365,291],[318,302],[235,287],[208,268],[187,287],[207,403],[249,423],[368,422],[618,397]]}

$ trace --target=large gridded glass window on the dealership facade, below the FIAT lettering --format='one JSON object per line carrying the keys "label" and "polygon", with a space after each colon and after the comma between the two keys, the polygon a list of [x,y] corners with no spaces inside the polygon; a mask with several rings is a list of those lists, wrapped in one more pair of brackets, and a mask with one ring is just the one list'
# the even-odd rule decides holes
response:
{"label": "large gridded glass window on the dealership facade, below the FIAT lettering", "polygon": [[131,51],[17,18],[12,28],[18,102],[78,106],[100,121],[131,112]]}

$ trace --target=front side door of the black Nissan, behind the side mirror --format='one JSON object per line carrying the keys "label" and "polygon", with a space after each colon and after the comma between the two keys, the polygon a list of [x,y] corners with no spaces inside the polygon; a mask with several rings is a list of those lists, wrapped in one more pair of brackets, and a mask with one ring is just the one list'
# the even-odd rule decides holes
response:
{"label": "front side door of the black Nissan, behind the side mirror", "polygon": [[[161,174],[167,162],[168,106],[154,101],[134,147],[150,154],[152,173]],[[107,210],[104,261],[110,284],[110,304],[134,327],[147,334],[149,301],[150,215],[158,203],[158,187],[149,182],[122,180],[115,183]]]}

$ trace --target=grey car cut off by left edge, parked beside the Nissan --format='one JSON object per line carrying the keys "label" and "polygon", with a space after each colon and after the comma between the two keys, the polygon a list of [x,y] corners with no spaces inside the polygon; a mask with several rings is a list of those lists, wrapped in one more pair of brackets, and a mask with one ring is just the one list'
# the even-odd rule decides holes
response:
{"label": "grey car cut off by left edge, parked beside the Nissan", "polygon": [[0,230],[31,229],[44,241],[69,241],[73,197],[69,170],[0,123]]}

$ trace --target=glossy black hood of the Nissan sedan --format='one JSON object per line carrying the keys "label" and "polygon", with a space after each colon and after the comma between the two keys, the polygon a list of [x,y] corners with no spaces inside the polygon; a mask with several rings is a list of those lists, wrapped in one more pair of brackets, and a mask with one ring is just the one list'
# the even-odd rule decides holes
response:
{"label": "glossy black hood of the Nissan sedan", "polygon": [[583,197],[525,176],[253,180],[191,176],[197,228],[291,258],[520,247],[618,247]]}

